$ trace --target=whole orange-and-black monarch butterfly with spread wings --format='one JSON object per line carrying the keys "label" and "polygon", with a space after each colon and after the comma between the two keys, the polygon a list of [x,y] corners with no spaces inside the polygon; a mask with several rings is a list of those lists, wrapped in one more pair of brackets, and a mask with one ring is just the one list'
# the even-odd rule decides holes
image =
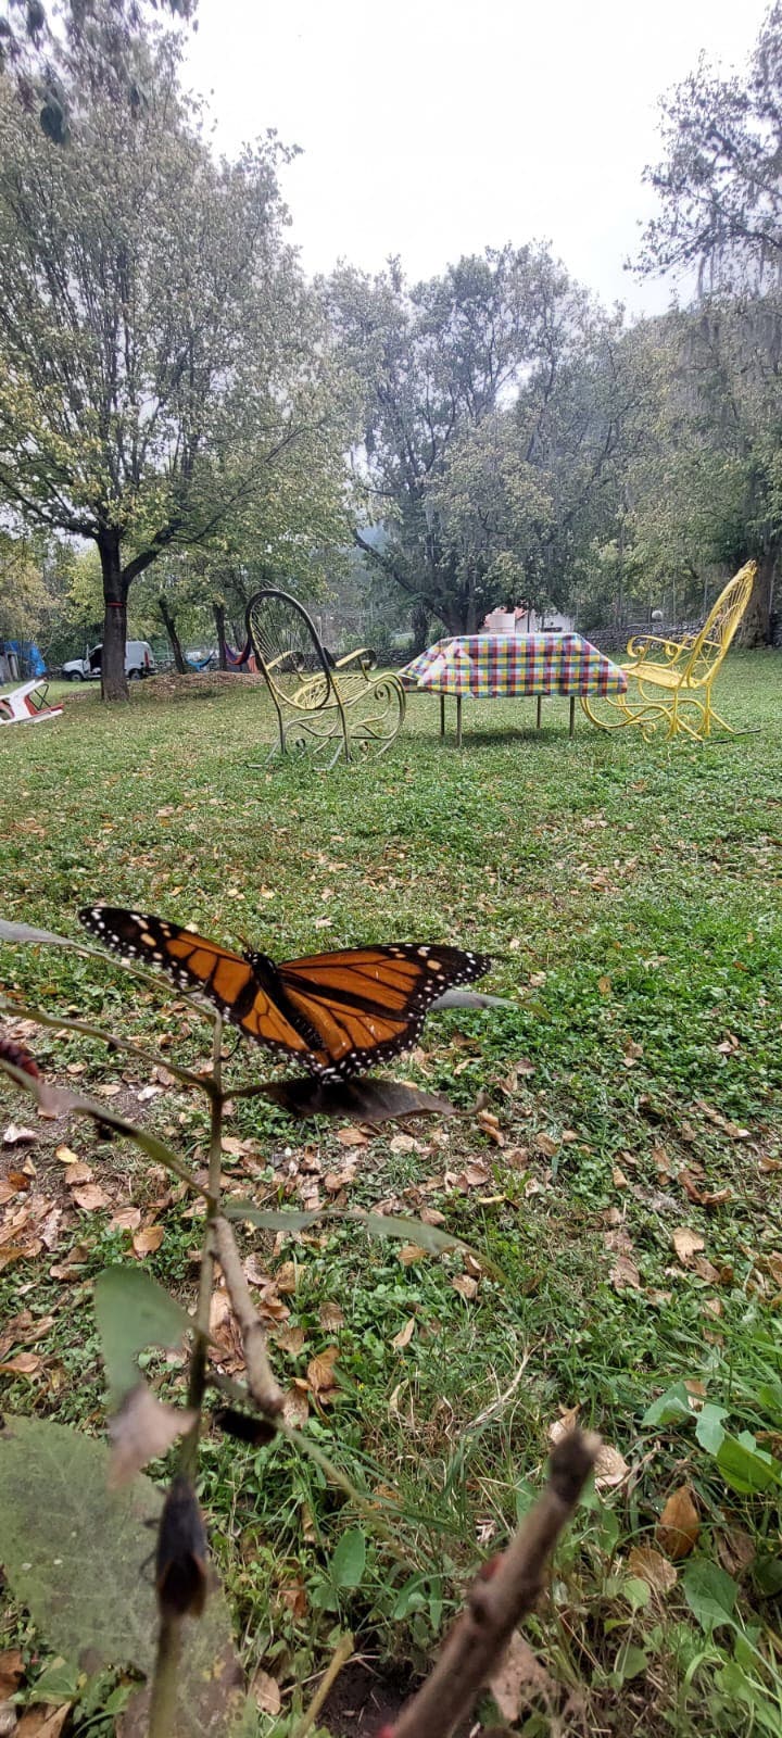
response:
{"label": "whole orange-and-black monarch butterfly with spread wings", "polygon": [[245,1038],[285,1050],[320,1079],[348,1079],[410,1050],[438,996],[483,977],[487,954],[459,947],[348,947],[275,965],[235,954],[195,930],[115,905],[89,905],[80,921],[106,947],[200,989]]}

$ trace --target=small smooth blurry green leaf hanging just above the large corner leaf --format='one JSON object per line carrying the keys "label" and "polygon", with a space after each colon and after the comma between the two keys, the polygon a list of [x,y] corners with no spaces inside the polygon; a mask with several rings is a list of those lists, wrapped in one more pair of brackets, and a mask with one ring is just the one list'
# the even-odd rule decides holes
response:
{"label": "small smooth blurry green leaf hanging just above the large corner leaf", "polygon": [[174,1350],[193,1328],[188,1310],[141,1267],[106,1267],[97,1276],[96,1319],[115,1406],[139,1380],[139,1352]]}

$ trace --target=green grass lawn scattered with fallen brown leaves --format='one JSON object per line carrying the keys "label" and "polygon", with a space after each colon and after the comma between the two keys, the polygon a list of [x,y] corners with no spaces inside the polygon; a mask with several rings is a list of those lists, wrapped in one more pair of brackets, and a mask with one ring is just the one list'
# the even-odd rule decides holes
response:
{"label": "green grass lawn scattered with fallen brown leaves", "polygon": [[[476,1251],[407,1260],[334,1224],[295,1243],[247,1236],[271,1274],[285,1265],[288,1279],[295,1262],[273,1347],[283,1385],[339,1349],[341,1387],[325,1406],[309,1396],[308,1430],[377,1493],[379,1514],[377,1529],[361,1519],[361,1582],[342,1590],[328,1566],[356,1526],[349,1502],[287,1444],[207,1436],[202,1500],[236,1635],[249,1672],[283,1691],[261,1729],[288,1729],[309,1698],[294,1681],[323,1667],[339,1625],[379,1667],[421,1668],[528,1505],[551,1427],[579,1408],[627,1470],[560,1549],[528,1625],[551,1682],[518,1731],[782,1733],[782,657],[728,660],[716,700],[751,730],[737,740],[646,746],[580,714],[568,740],[567,702],[544,706],[540,733],[533,702],[466,702],[457,751],[438,737],[436,700],[415,697],[384,760],[330,773],[262,765],[271,718],[240,680],[165,702],[156,688],[120,713],[71,690],[59,723],[0,730],[2,916],[76,935],[76,909],[106,900],[278,958],[448,940],[490,952],[481,987],[513,1003],[429,1018],[391,1072],[461,1114],[421,1119],[408,1138],[386,1124],[346,1147],[334,1124],[236,1102],[250,1182],[242,1152],[226,1163],[243,1194],[327,1199],[325,1178],[348,1164],[349,1204],[434,1210]],[[182,1005],[160,1012],[116,961],[3,947],[0,978],[52,1013],[163,1032],[172,1055],[203,1060],[209,1027]],[[43,1031],[35,1050],[92,1091],[120,1085],[203,1163],[200,1104],[169,1086],[141,1105],[139,1069],[85,1039]],[[228,1050],[236,1083],[266,1065],[233,1038]],[[0,1100],[5,1121],[30,1118],[10,1090]],[[64,1137],[42,1130],[26,1151],[56,1199]],[[66,1203],[56,1248],[0,1272],[3,1314],[52,1317],[40,1364],[5,1378],[3,1406],[94,1430],[104,1385],[89,1281],[134,1258],[109,1218],[127,1204],[148,1215],[162,1182],[85,1124],[68,1142],[111,1204]],[[19,1149],[0,1166],[16,1170]],[[189,1300],[188,1211],[186,1199],[158,1210],[148,1260]],[[5,1357],[28,1343],[21,1333]],[[655,1529],[683,1486],[699,1533],[673,1583],[645,1554],[671,1554]],[[405,1510],[391,1536],[389,1495]],[[9,1609],[5,1644],[19,1635],[28,1646]]]}

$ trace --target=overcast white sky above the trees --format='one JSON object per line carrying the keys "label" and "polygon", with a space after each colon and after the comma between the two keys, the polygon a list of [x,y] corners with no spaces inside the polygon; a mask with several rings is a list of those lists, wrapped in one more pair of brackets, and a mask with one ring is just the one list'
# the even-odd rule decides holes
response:
{"label": "overcast white sky above the trees", "polygon": [[308,271],[342,255],[412,278],[485,245],[551,242],[605,301],[655,311],[622,271],[653,209],[657,99],[744,66],[766,0],[200,0],[188,52],[215,143],[266,127]]}

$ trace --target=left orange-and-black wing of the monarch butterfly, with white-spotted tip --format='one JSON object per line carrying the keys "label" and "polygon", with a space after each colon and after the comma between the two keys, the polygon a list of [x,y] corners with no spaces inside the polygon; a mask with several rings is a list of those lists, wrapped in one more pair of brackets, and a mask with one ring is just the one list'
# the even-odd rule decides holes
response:
{"label": "left orange-and-black wing of the monarch butterfly, with white-spotted tip", "polygon": [[318,1034],[299,1022],[292,1010],[276,1005],[273,992],[259,984],[254,966],[242,954],[177,923],[122,911],[118,905],[89,905],[78,918],[116,954],[162,966],[181,989],[198,989],[202,996],[209,996],[222,1018],[238,1025],[245,1038],[308,1060]]}

